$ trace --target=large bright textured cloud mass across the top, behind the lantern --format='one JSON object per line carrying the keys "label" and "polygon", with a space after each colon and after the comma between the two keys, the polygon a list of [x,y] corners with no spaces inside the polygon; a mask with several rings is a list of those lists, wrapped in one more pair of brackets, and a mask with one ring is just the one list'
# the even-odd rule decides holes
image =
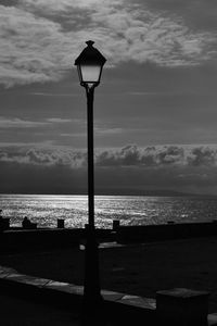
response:
{"label": "large bright textured cloud mass across the top, behind the lantern", "polygon": [[108,65],[135,61],[194,65],[216,55],[216,35],[127,0],[20,0],[0,5],[0,83],[61,79],[93,38]]}

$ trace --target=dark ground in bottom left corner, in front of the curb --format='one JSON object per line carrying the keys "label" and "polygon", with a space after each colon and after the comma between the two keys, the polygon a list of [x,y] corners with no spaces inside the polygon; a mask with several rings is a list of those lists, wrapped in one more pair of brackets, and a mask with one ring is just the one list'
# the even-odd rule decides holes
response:
{"label": "dark ground in bottom left corner, in front of the curb", "polygon": [[2,326],[78,326],[78,315],[10,296],[0,296]]}

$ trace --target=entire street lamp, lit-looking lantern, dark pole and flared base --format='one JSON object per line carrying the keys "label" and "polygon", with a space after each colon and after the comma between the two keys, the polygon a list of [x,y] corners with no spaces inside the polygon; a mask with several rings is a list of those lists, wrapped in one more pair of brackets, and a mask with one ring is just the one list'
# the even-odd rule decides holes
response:
{"label": "entire street lamp, lit-looking lantern, dark pole and flared base", "polygon": [[93,41],[86,42],[87,47],[75,60],[80,85],[87,95],[87,129],[88,129],[88,228],[85,250],[85,290],[84,314],[87,318],[95,317],[100,293],[99,254],[94,226],[94,152],[93,152],[93,96],[94,88],[100,84],[105,58],[93,47]]}

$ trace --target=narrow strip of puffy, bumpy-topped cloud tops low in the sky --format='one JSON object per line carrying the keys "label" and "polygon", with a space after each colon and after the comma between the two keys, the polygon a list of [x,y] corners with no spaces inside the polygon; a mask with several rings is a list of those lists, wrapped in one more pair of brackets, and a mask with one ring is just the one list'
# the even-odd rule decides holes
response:
{"label": "narrow strip of puffy, bumpy-topped cloud tops low in the sky", "polygon": [[[41,165],[84,167],[87,154],[71,148],[2,148],[0,161]],[[99,167],[216,167],[217,146],[153,146],[140,148],[128,145],[122,149],[101,150],[95,153]]]}

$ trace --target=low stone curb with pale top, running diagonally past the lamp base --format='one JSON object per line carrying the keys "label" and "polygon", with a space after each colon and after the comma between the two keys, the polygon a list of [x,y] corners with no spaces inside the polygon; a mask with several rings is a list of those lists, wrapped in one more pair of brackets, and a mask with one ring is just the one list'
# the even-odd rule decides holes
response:
{"label": "low stone curb with pale top, running diagonally past the lamp base", "polygon": [[[17,271],[0,266],[0,289],[8,294],[42,302],[66,310],[80,311],[84,287],[20,274]],[[156,300],[126,293],[101,290],[108,319],[117,325],[157,325]],[[209,314],[207,326],[217,326],[217,313]]]}

